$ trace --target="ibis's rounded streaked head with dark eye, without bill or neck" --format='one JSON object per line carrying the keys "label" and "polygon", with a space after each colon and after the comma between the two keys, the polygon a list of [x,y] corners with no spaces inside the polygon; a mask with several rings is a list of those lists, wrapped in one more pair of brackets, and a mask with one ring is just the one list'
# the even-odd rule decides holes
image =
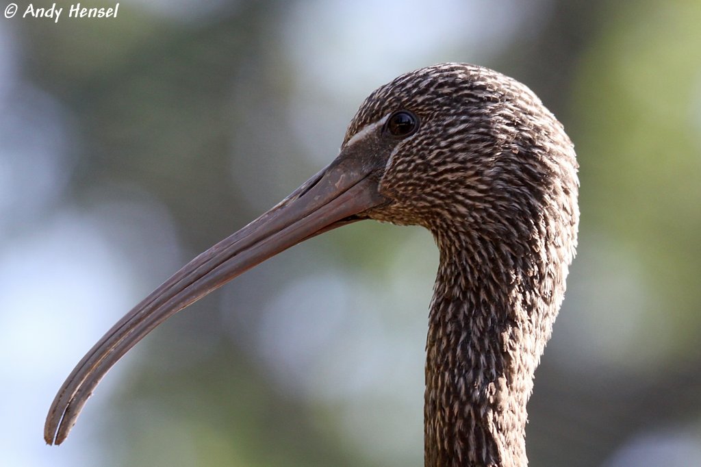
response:
{"label": "ibis's rounded streaked head with dark eye, without bill or neck", "polygon": [[375,90],[348,126],[345,157],[367,161],[386,199],[356,217],[439,236],[516,239],[545,217],[576,231],[569,137],[529,88],[491,69],[435,65]]}

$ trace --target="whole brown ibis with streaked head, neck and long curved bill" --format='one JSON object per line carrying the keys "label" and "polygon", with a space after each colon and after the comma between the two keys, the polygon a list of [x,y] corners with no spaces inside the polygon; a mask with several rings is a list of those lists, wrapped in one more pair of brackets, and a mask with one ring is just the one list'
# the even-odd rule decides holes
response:
{"label": "whole brown ibis with streaked head, neck and long curved bill", "polygon": [[576,255],[578,162],[524,84],[442,63],[377,88],[338,156],[271,210],[182,267],[76,365],[48,412],[63,442],[137,341],[247,269],[332,229],[418,225],[440,255],[428,313],[426,466],[526,466],[526,403]]}

